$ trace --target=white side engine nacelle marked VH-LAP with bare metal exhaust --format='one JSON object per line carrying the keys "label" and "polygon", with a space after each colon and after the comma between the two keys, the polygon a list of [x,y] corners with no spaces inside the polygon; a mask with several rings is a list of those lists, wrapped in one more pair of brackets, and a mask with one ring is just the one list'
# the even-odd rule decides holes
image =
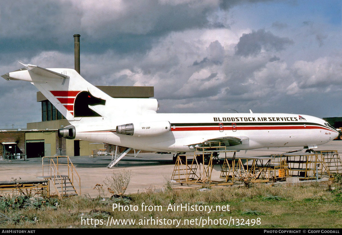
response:
{"label": "white side engine nacelle marked VH-LAP with bare metal exhaust", "polygon": [[156,136],[171,130],[169,121],[129,123],[116,127],[116,133],[132,136]]}

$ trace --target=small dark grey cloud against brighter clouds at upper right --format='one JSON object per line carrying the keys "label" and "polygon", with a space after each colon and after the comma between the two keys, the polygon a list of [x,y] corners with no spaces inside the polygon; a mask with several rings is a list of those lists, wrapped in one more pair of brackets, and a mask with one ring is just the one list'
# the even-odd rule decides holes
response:
{"label": "small dark grey cloud against brighter clouds at upper right", "polygon": [[236,45],[236,55],[249,56],[257,55],[261,49],[266,51],[284,50],[286,45],[293,44],[289,38],[281,38],[273,35],[271,32],[265,32],[264,29],[252,31],[249,34],[242,34],[238,44]]}

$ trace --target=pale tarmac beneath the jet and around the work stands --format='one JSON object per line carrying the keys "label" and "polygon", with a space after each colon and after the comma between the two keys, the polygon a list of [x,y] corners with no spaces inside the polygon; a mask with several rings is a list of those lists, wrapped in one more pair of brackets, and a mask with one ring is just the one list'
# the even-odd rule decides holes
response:
{"label": "pale tarmac beneath the jet and around the work stands", "polygon": [[[262,148],[256,150],[239,151],[237,157],[267,157],[271,154],[285,153],[292,150],[300,150],[301,148]],[[342,152],[342,141],[333,140],[327,144],[318,146],[315,150],[338,150]],[[232,154],[232,153],[230,153]],[[70,157],[70,160],[75,165],[75,168],[81,178],[81,194],[96,197],[98,191],[93,189],[96,184],[104,185],[104,193],[106,186],[104,181],[106,177],[110,177],[111,173],[120,170],[129,170],[132,172],[132,178],[128,185],[126,193],[137,193],[146,190],[163,190],[166,181],[171,178],[174,164],[172,163],[172,154],[157,154],[157,153],[140,153],[137,157],[133,154],[127,154],[113,169],[107,169],[106,166],[111,162],[111,156],[100,156],[89,158],[89,156]],[[221,155],[224,157],[224,155]],[[220,156],[220,157],[221,157]],[[47,175],[47,169],[44,169],[44,175]],[[219,176],[220,166],[214,167],[212,180],[220,180],[214,177]],[[27,161],[16,160],[8,162],[0,161],[0,181],[13,180],[37,180],[37,177],[43,175],[42,159],[29,158]],[[174,185],[174,187],[187,187]],[[192,186],[194,187],[194,186]],[[50,186],[53,191],[53,186]],[[109,193],[107,193],[109,196]]]}

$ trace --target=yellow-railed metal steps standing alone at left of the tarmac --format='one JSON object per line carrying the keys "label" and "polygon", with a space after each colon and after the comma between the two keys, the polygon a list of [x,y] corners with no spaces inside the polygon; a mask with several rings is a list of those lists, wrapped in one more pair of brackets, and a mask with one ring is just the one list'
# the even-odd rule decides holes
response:
{"label": "yellow-railed metal steps standing alone at left of the tarmac", "polygon": [[50,180],[58,197],[81,194],[81,178],[68,156],[43,157],[42,166],[43,178]]}

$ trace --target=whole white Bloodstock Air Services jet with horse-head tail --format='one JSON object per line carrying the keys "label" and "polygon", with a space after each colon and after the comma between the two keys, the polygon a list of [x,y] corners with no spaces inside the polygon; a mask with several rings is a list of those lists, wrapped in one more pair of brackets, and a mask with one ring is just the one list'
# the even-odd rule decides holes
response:
{"label": "whole white Bloodstock Air Services jet with horse-head tail", "polygon": [[158,152],[192,152],[217,143],[232,150],[316,148],[338,136],[326,121],[284,113],[157,113],[156,99],[112,98],[73,69],[30,64],[2,75],[35,85],[70,122],[69,139]]}

